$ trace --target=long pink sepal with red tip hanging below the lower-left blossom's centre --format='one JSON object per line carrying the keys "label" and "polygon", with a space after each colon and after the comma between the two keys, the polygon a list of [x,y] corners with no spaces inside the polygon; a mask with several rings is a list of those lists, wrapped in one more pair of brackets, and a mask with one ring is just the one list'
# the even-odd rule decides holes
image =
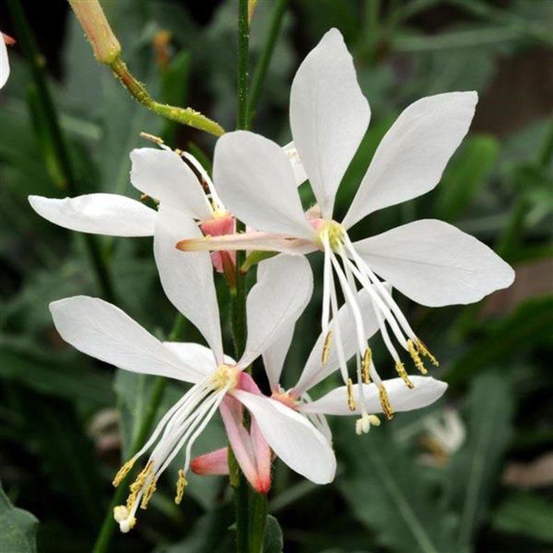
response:
{"label": "long pink sepal with red tip hanging below the lower-left blossom's centre", "polygon": [[240,465],[244,476],[256,491],[260,494],[266,494],[270,488],[270,472],[268,481],[266,475],[259,474],[252,438],[242,424],[242,405],[234,397],[227,395],[219,406],[219,410],[225,424],[230,447],[232,447],[236,461]]}

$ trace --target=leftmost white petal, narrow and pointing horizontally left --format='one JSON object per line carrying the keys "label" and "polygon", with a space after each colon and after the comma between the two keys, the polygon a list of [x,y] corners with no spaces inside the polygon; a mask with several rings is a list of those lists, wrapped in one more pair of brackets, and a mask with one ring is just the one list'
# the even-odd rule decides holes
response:
{"label": "leftmost white petal, narrow and pointing horizontally left", "polygon": [[78,232],[106,236],[152,236],[157,212],[119,194],[85,194],[76,198],[29,196],[32,209],[50,223]]}

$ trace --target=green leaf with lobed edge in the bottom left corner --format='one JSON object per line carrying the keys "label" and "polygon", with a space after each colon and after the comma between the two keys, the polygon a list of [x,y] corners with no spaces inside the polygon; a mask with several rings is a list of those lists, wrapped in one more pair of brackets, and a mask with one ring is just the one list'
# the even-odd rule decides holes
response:
{"label": "green leaf with lobed edge in the bottom left corner", "polygon": [[0,487],[0,551],[35,553],[38,523],[30,512],[14,507]]}

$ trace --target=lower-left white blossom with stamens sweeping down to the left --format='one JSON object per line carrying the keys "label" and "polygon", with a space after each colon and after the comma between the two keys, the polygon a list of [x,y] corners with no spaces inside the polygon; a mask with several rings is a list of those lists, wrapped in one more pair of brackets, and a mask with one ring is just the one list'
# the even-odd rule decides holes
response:
{"label": "lower-left white blossom with stamens sweeping down to the left", "polygon": [[[301,258],[265,261],[265,271],[247,297],[247,344],[238,362],[223,355],[221,326],[209,256],[198,252],[182,256],[175,247],[179,232],[200,233],[189,218],[162,205],[156,221],[154,252],[160,279],[169,299],[200,330],[209,347],[192,343],[161,342],[119,308],[101,299],[77,296],[50,304],[62,338],[78,350],[126,371],[162,375],[193,384],[163,415],[149,440],[126,462],[113,480],[119,485],[138,458],[151,451],[142,471],[130,487],[126,505],[114,509],[122,532],[135,525],[138,507],[145,509],[156,482],[172,460],[184,452],[177,482],[176,503],[186,485],[191,449],[215,411],[230,402],[245,406],[252,415],[249,435],[241,425],[226,424],[229,441],[237,449],[253,449],[265,465],[249,471],[255,480],[270,478],[270,450],[290,468],[313,482],[327,483],[335,474],[335,456],[315,427],[299,413],[258,395],[250,375],[244,372],[270,347],[281,328],[299,317],[312,293],[309,264]],[[288,279],[301,283],[291,287]],[[253,390],[253,391],[252,391]],[[238,461],[241,461],[241,457]],[[253,473],[253,474],[252,474]],[[266,482],[254,482],[267,490]]]}

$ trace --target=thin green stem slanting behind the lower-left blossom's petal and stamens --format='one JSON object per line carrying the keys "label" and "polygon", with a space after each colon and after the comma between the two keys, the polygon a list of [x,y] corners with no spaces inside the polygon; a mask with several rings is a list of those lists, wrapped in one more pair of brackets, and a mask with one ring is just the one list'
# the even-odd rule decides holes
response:
{"label": "thin green stem slanting behind the lower-left blossom's petal and stamens", "polygon": [[[169,341],[177,340],[185,329],[186,319],[178,313],[175,318],[173,328],[169,332]],[[165,377],[157,377],[156,381],[153,384],[153,389],[151,391],[150,399],[144,411],[144,418],[140,422],[140,427],[136,433],[135,439],[131,445],[131,455],[129,458],[132,458],[133,455],[142,447],[144,442],[147,439],[148,434],[151,431],[153,421],[156,418],[156,413],[163,399],[163,394],[165,393],[165,386],[167,385],[167,379]],[[115,532],[115,521],[113,520],[113,508],[117,505],[124,503],[124,497],[128,493],[129,482],[131,481],[132,471],[126,475],[126,478],[122,480],[118,488],[111,498],[111,502],[106,511],[106,516],[104,516],[104,522],[100,528],[100,532],[96,538],[96,542],[93,547],[93,553],[106,553],[109,551],[109,546],[111,540],[113,539],[113,534]]]}

